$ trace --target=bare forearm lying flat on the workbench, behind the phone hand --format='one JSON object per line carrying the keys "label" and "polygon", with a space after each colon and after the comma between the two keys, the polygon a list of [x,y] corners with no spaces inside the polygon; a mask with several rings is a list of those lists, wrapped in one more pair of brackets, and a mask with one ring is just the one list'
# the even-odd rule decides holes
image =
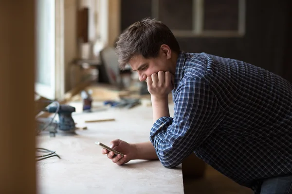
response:
{"label": "bare forearm lying flat on the workbench, behind the phone hand", "polygon": [[136,160],[158,160],[154,146],[151,142],[133,144],[136,147]]}

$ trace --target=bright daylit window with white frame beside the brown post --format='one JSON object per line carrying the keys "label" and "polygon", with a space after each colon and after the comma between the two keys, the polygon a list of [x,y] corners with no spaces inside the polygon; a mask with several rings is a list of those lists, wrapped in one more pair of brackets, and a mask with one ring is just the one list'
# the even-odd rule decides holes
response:
{"label": "bright daylit window with white frame beside the brown post", "polygon": [[63,0],[36,1],[35,91],[48,99],[64,94]]}

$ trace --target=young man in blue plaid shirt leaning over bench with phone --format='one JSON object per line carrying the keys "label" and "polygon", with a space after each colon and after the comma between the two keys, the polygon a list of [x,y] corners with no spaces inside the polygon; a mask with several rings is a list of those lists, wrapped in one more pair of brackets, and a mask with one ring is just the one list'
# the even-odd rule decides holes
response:
{"label": "young man in blue plaid shirt leaning over bench with phone", "polygon": [[[292,193],[292,84],[262,68],[206,53],[187,53],[162,22],[144,19],[120,35],[116,52],[146,81],[153,106],[150,141],[111,142],[134,159],[168,168],[192,152],[261,194]],[[168,110],[172,91],[174,117]]]}

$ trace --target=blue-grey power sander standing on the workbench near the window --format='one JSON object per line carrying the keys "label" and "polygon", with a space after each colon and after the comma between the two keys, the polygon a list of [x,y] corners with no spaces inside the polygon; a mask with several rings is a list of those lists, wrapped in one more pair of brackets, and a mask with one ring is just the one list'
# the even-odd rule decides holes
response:
{"label": "blue-grey power sander standing on the workbench near the window", "polygon": [[[49,113],[58,113],[59,122],[57,123],[58,127],[55,132],[60,135],[76,135],[75,122],[72,118],[72,113],[76,111],[75,107],[61,104],[59,106],[49,106],[46,108],[46,111]],[[50,131],[50,136],[55,136],[52,133],[54,132]]]}

